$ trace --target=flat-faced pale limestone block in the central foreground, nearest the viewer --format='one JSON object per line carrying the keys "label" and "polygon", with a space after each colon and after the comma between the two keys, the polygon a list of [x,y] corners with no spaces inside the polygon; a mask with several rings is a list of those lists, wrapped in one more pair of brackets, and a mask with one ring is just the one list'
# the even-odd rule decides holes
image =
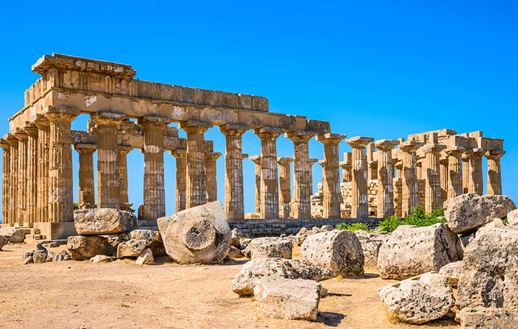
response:
{"label": "flat-faced pale limestone block in the central foreground, nearest the viewer", "polygon": [[274,319],[315,321],[320,303],[318,282],[271,276],[253,288],[261,312]]}

